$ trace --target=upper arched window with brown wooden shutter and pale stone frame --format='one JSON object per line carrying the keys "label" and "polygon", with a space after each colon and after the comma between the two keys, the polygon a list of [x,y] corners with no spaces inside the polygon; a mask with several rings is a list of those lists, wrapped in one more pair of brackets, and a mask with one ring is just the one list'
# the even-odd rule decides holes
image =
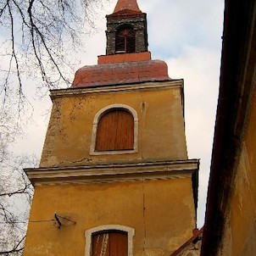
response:
{"label": "upper arched window with brown wooden shutter and pale stone frame", "polygon": [[125,104],[112,104],[95,114],[90,154],[137,152],[138,116]]}

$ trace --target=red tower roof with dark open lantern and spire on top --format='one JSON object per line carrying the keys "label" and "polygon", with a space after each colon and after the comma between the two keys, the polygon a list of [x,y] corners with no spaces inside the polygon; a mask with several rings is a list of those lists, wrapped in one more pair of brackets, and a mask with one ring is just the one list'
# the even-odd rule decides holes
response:
{"label": "red tower roof with dark open lantern and spire on top", "polygon": [[170,81],[164,61],[152,60],[147,50],[147,14],[136,0],[117,0],[107,18],[106,55],[97,65],[77,70],[72,87]]}

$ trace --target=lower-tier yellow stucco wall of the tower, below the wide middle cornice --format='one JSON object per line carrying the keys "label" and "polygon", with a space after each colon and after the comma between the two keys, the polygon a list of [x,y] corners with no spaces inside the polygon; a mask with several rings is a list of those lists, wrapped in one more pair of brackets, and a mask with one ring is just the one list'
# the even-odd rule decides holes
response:
{"label": "lower-tier yellow stucco wall of the tower, below the wide middle cornice", "polygon": [[[25,256],[85,255],[85,231],[98,225],[135,229],[133,255],[167,256],[195,228],[191,178],[36,186]],[[53,214],[75,220],[58,229]]]}

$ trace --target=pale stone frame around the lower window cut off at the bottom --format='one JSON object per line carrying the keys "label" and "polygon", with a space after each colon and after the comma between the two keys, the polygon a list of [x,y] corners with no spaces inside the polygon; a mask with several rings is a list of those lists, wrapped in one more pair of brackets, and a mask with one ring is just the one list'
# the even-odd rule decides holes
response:
{"label": "pale stone frame around the lower window cut off at the bottom", "polygon": [[125,231],[128,234],[128,256],[133,256],[133,237],[135,236],[135,229],[125,225],[100,225],[89,229],[85,232],[86,236],[86,256],[92,254],[92,234],[99,231]]}

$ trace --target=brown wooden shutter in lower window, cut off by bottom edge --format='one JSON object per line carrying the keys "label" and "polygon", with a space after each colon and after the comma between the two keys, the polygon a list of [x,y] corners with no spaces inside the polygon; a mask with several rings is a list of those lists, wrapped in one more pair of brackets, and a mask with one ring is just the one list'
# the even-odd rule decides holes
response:
{"label": "brown wooden shutter in lower window, cut off by bottom edge", "polygon": [[92,256],[128,256],[128,235],[106,231],[92,235]]}

